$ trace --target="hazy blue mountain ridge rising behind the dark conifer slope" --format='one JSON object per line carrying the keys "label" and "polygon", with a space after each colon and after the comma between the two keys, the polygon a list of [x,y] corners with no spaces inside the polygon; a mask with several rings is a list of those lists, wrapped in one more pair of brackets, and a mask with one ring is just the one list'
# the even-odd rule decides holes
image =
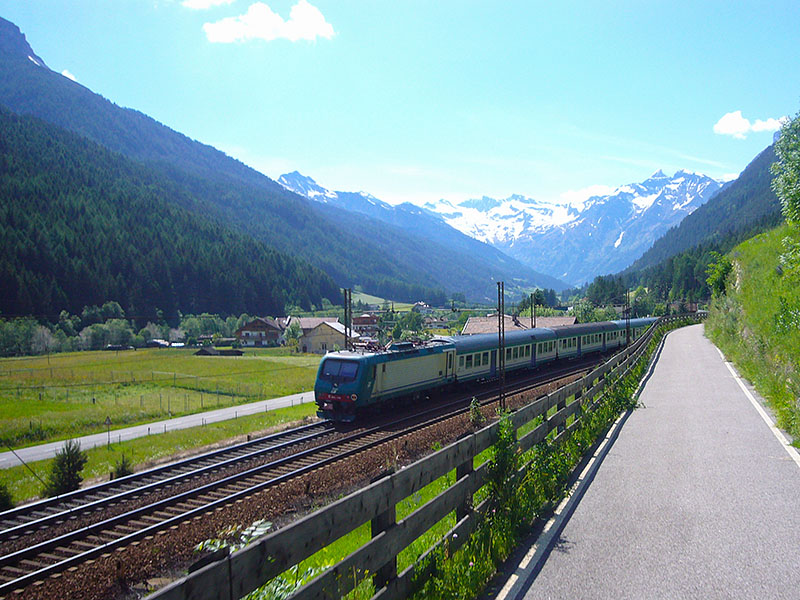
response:
{"label": "hazy blue mountain ridge rising behind the dark conifer slope", "polygon": [[[12,23],[0,19],[0,105],[32,114],[142,161],[180,193],[167,203],[213,218],[325,271],[340,286],[398,300],[439,302],[446,291],[482,299],[493,281],[525,274],[474,260],[401,228],[324,210],[222,152],[190,140],[48,69]],[[275,282],[279,285],[279,282]],[[491,291],[491,290],[490,290]],[[335,301],[334,298],[331,298]]]}

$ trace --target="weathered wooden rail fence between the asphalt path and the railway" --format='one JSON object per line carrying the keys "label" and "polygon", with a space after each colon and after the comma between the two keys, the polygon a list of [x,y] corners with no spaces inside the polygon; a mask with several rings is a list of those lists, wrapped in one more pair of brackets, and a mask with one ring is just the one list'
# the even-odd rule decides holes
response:
{"label": "weathered wooden rail fence between the asphalt path and the railway", "polygon": [[[645,335],[585,377],[531,402],[512,413],[517,430],[537,417],[541,424],[518,440],[522,451],[531,449],[555,431],[562,438],[591,411],[609,378],[624,376],[643,358],[657,327],[686,317],[662,317]],[[555,412],[548,416],[551,409]],[[574,417],[569,421],[570,417]],[[569,424],[568,424],[569,423]],[[456,512],[455,526],[437,542],[450,552],[463,545],[474,531],[486,505],[472,507],[472,499],[485,483],[488,463],[473,469],[474,458],[497,437],[497,422],[388,475],[327,507],[280,529],[253,544],[225,555],[150,596],[155,600],[234,600],[261,587],[317,551],[371,523],[372,539],[324,573],[295,591],[292,598],[339,598],[371,575],[374,598],[404,598],[413,593],[414,581],[429,575],[429,549],[413,565],[397,573],[397,555],[448,514]],[[409,514],[396,519],[396,506],[429,483],[455,469],[455,483]]]}

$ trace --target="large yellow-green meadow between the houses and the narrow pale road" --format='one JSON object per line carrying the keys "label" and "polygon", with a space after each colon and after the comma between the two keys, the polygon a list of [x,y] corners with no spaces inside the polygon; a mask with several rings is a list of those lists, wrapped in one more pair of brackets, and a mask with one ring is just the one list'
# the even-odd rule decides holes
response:
{"label": "large yellow-green meadow between the houses and the narrow pale road", "polygon": [[72,352],[0,360],[0,439],[21,447],[311,390],[320,357],[283,348]]}

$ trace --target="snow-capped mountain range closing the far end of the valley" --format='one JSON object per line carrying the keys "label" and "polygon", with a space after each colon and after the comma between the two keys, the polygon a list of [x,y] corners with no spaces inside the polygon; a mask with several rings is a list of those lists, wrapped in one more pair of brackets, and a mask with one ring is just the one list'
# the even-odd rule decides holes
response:
{"label": "snow-capped mountain range closing the far end of the valley", "polygon": [[706,175],[678,171],[669,177],[659,170],[641,183],[568,204],[513,195],[459,203],[440,200],[418,207],[392,206],[365,192],[331,191],[296,171],[278,182],[317,203],[414,227],[435,236],[431,239],[453,238],[451,229],[457,230],[572,284],[629,266],[723,187]]}

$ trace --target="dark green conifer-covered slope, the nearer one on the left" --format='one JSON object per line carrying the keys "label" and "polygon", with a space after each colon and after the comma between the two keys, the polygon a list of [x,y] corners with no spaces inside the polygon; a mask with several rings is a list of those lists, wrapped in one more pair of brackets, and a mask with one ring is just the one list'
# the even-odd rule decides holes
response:
{"label": "dark green conifer-covered slope, the nearer one on the left", "polygon": [[274,315],[339,295],[318,269],[183,208],[196,200],[170,178],[5,110],[0,201],[3,316],[52,318],[107,300],[140,318]]}

